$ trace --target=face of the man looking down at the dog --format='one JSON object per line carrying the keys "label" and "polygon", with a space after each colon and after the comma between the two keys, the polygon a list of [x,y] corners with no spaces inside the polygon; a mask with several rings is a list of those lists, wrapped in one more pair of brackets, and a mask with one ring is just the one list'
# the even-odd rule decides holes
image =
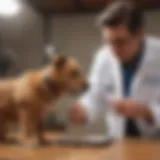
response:
{"label": "face of the man looking down at the dog", "polygon": [[102,36],[123,62],[130,61],[135,56],[143,39],[142,32],[131,34],[125,25],[103,28]]}

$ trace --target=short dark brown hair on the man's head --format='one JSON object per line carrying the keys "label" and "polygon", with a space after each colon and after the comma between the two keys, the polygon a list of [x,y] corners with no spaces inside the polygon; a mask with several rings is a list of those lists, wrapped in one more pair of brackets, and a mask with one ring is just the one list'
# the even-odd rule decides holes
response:
{"label": "short dark brown hair on the man's head", "polygon": [[99,27],[115,27],[125,24],[131,33],[135,33],[144,25],[144,15],[131,2],[114,2],[98,17]]}

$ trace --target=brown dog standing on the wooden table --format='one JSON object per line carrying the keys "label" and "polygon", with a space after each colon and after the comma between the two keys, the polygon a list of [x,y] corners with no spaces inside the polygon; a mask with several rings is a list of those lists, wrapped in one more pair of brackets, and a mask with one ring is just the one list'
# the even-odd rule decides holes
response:
{"label": "brown dog standing on the wooden table", "polygon": [[44,141],[42,119],[47,106],[62,94],[85,89],[86,82],[78,62],[71,57],[54,56],[52,63],[40,71],[32,71],[0,81],[0,140],[6,137],[8,122],[18,121],[23,140]]}

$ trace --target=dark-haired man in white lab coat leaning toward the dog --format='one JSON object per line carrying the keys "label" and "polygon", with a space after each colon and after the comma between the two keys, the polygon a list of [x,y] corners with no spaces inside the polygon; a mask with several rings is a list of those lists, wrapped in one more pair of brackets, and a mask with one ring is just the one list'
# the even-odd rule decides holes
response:
{"label": "dark-haired man in white lab coat leaning toward the dog", "polygon": [[86,124],[106,116],[115,138],[160,137],[160,40],[145,35],[144,15],[131,3],[111,4],[98,24],[105,44],[70,119]]}

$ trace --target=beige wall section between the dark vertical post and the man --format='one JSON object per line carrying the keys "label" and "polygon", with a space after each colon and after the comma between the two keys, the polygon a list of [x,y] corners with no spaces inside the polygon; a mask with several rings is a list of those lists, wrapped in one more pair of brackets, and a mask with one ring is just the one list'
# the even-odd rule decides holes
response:
{"label": "beige wall section between the dark vertical post and the man", "polygon": [[100,44],[94,25],[95,15],[67,15],[53,18],[53,39],[57,50],[76,56],[88,68],[93,52]]}

